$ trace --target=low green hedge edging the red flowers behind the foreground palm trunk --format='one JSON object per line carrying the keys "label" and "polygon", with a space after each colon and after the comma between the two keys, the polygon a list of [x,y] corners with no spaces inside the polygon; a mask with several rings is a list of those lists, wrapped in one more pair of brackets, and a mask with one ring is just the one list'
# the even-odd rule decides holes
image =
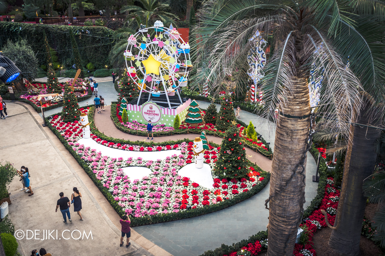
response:
{"label": "low green hedge edging the red flowers behind the foreground palm trunk", "polygon": [[[314,151],[316,150],[316,152]],[[318,158],[318,150],[315,148],[314,145],[312,145],[310,153],[316,153],[316,156]],[[313,157],[315,157],[313,155]],[[310,205],[306,208],[303,214],[303,219],[306,219],[310,216],[311,213],[313,213],[314,210],[318,208],[318,206],[321,204],[321,201],[323,197],[325,196],[325,186],[326,186],[326,179],[327,179],[327,168],[326,165],[320,165],[320,181],[318,183],[317,188],[317,195],[313,200],[311,200]],[[214,250],[205,251],[200,256],[223,256],[224,254],[229,254],[234,251],[240,251],[243,246],[247,246],[249,243],[255,243],[256,240],[266,239],[268,236],[268,231],[259,231],[258,233],[250,236],[248,239],[243,239],[239,241],[238,243],[233,243],[232,245],[226,245],[222,244],[221,247],[218,247]],[[260,253],[259,253],[260,254]]]}

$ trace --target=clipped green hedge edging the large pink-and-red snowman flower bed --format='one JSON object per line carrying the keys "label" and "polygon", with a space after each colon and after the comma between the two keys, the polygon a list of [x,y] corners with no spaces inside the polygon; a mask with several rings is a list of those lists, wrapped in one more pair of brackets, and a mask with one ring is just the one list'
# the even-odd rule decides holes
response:
{"label": "clipped green hedge edging the large pink-and-red snowman flower bed", "polygon": [[[87,108],[84,106],[83,108]],[[55,114],[56,115],[56,114]],[[52,115],[54,116],[54,115]],[[91,180],[95,183],[95,185],[99,188],[99,190],[104,194],[105,198],[111,206],[115,209],[115,211],[120,215],[124,215],[124,211],[121,208],[121,206],[118,205],[118,203],[114,200],[112,194],[108,192],[108,189],[103,186],[103,183],[96,178],[95,173],[89,168],[87,163],[85,163],[84,160],[81,159],[81,156],[77,155],[77,153],[72,149],[72,146],[68,144],[68,142],[65,140],[65,138],[60,135],[60,132],[57,131],[49,122],[49,117],[46,118],[47,120],[47,125],[48,127],[54,132],[54,134],[57,136],[57,138],[63,143],[65,148],[71,153],[72,156],[76,159],[76,161],[79,163],[80,166],[82,166],[83,170],[88,174],[88,176],[91,178]],[[88,120],[91,122],[90,125],[90,130],[92,134],[98,136],[102,140],[108,140],[110,142],[114,143],[129,143],[132,145],[141,145],[141,146],[152,146],[152,145],[159,145],[159,146],[164,146],[164,145],[169,145],[171,143],[177,144],[181,142],[188,142],[190,140],[184,139],[184,140],[178,140],[178,141],[166,141],[162,143],[149,143],[149,142],[142,142],[142,141],[127,141],[127,140],[121,140],[121,139],[116,139],[116,138],[111,138],[103,133],[101,133],[99,130],[94,125],[94,108],[90,107],[89,109],[89,115],[88,115]],[[219,146],[212,144],[213,146]],[[234,196],[231,199],[224,200],[221,203],[217,204],[211,204],[208,206],[204,206],[202,208],[196,208],[196,209],[190,209],[187,211],[180,211],[179,213],[168,213],[168,214],[157,214],[155,216],[144,216],[144,217],[139,217],[139,218],[131,218],[131,226],[136,227],[136,226],[143,226],[143,225],[149,225],[149,224],[156,224],[156,223],[163,223],[163,222],[168,222],[168,221],[175,221],[178,219],[185,219],[185,218],[192,218],[196,216],[200,216],[203,214],[208,214],[208,213],[213,213],[214,211],[219,211],[221,209],[227,208],[229,206],[233,206],[234,204],[237,204],[241,201],[244,201],[245,199],[250,198],[254,194],[258,193],[261,191],[269,182],[270,180],[270,173],[263,171],[261,168],[259,168],[257,165],[254,165],[251,163],[251,166],[255,168],[256,171],[259,171],[262,177],[264,177],[264,180],[259,183],[259,185],[254,186],[249,190],[248,192],[243,192],[241,194],[238,194]]]}

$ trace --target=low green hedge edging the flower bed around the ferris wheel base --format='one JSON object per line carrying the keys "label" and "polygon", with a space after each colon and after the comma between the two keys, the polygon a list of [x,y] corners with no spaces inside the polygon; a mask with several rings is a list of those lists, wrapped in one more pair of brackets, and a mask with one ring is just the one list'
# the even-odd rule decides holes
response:
{"label": "low green hedge edging the flower bed around the ferris wheel base", "polygon": [[[111,119],[112,121],[114,121],[114,125],[116,128],[118,128],[119,130],[125,132],[125,133],[128,133],[128,134],[132,134],[132,135],[137,135],[137,136],[146,136],[146,132],[145,131],[132,131],[132,130],[129,130],[128,128],[126,127],[122,127],[120,125],[120,122],[119,122],[119,118],[116,116],[116,108],[117,108],[117,101],[112,101],[111,102]],[[201,110],[204,110],[203,108]],[[241,120],[238,120],[236,119],[235,120],[237,123],[239,123],[240,125],[244,126],[247,128],[248,125],[246,125],[243,121]],[[223,133],[220,133],[220,132],[216,132],[216,131],[208,131],[208,130],[205,130],[206,131],[206,135],[211,135],[211,136],[216,136],[216,137],[219,137],[219,138],[223,138],[222,135]],[[161,136],[169,136],[169,135],[179,135],[179,134],[201,134],[202,130],[200,129],[179,129],[177,131],[166,131],[166,132],[162,132],[161,135],[159,135],[159,132],[154,132],[154,137],[161,137]],[[258,132],[255,132],[258,136],[260,135]],[[264,138],[261,138],[261,141],[263,144],[267,145],[267,141],[264,140]],[[244,141],[244,144],[251,150],[253,151],[256,151],[257,153],[269,158],[270,160],[273,158],[273,151],[271,151],[271,148],[269,148],[268,150],[268,153],[266,154],[265,152],[259,150],[258,147],[254,147],[252,144],[249,144],[248,141]]]}

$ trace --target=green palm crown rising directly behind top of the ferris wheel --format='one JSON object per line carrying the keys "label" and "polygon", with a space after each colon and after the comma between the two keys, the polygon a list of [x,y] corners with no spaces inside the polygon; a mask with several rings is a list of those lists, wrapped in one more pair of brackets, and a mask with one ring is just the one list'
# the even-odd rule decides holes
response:
{"label": "green palm crown rising directly behind top of the ferris wheel", "polygon": [[[136,24],[136,18],[142,17],[141,19],[145,22],[143,23],[146,27],[149,27],[150,23],[152,24],[155,20],[161,20],[163,23],[170,22],[171,19],[177,19],[177,16],[167,12],[170,8],[168,4],[159,3],[158,0],[138,0],[143,7],[138,5],[127,5],[122,7],[122,12],[130,12],[127,15],[128,23],[131,21]],[[140,25],[140,24],[139,24]],[[137,28],[139,27],[137,26]]]}

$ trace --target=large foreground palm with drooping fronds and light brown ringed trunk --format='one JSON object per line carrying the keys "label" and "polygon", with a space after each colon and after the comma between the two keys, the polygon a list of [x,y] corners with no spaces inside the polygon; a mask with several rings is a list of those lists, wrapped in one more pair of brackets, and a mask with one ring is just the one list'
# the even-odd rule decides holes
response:
{"label": "large foreground palm with drooping fronds and light brown ringed trunk", "polygon": [[[328,115],[325,126],[346,138],[352,132],[351,121],[362,116],[360,110],[367,109],[361,107],[362,88],[378,95],[376,100],[383,95],[385,50],[377,42],[382,30],[378,32],[373,23],[380,23],[385,8],[378,2],[208,0],[198,13],[196,33],[200,40],[195,44],[195,64],[200,72],[192,80],[193,87],[207,79],[218,85],[231,72],[241,90],[248,80],[249,38],[259,30],[271,43],[262,83],[264,115],[277,123],[270,196],[266,200],[269,256],[293,254],[302,219],[306,152],[311,146],[310,64],[319,62],[324,69],[319,105],[325,105],[318,107],[318,112]],[[374,9],[372,3],[382,8]],[[373,9],[376,12],[372,13]],[[360,22],[365,23],[365,33]],[[322,50],[317,50],[320,46]],[[348,60],[350,66],[346,68]],[[212,90],[217,90],[216,86]],[[279,115],[275,118],[277,103]],[[354,189],[362,191],[362,187]],[[346,249],[346,244],[341,248]]]}

